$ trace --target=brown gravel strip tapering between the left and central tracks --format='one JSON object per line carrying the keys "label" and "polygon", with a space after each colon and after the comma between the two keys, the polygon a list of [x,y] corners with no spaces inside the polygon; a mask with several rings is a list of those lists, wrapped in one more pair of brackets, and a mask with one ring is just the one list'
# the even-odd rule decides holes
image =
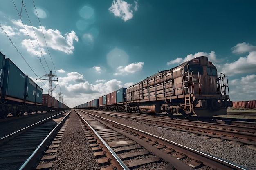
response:
{"label": "brown gravel strip tapering between the left and central tracks", "polygon": [[100,170],[74,111],[71,112],[51,170]]}

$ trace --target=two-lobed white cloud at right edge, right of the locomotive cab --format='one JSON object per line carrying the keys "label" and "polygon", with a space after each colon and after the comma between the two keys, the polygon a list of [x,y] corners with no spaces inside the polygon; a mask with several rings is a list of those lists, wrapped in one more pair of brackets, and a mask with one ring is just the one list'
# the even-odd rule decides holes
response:
{"label": "two-lobed white cloud at right edge, right of the locomotive cab", "polygon": [[246,44],[245,42],[236,44],[232,47],[233,53],[249,52],[249,55],[240,57],[237,61],[226,63],[222,66],[222,73],[226,75],[235,75],[240,73],[255,73],[256,72],[256,46]]}

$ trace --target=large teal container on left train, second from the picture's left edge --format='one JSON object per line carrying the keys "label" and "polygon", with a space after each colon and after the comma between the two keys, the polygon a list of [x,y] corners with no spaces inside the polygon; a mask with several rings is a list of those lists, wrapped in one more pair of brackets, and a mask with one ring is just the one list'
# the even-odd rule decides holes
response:
{"label": "large teal container on left train, second from the picture's left edge", "polygon": [[9,59],[5,59],[2,94],[5,99],[23,102],[25,74]]}

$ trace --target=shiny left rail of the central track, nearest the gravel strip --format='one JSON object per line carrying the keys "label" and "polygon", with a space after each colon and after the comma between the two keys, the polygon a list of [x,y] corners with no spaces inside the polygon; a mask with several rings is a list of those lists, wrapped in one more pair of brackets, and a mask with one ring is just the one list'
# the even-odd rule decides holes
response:
{"label": "shiny left rail of the central track, nearest the gravel strip", "polygon": [[82,119],[86,125],[93,131],[93,133],[97,136],[98,139],[101,140],[101,143],[108,149],[108,151],[111,153],[111,155],[117,160],[119,165],[124,169],[124,170],[130,170],[125,163],[117,156],[117,154],[110,148],[110,146],[101,138],[101,136],[90,126],[90,124],[75,110],[77,115],[79,115],[80,119]]}

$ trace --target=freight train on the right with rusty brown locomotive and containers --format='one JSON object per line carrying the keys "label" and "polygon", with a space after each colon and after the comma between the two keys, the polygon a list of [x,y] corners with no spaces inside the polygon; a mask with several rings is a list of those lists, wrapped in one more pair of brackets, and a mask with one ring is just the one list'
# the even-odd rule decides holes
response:
{"label": "freight train on the right with rusty brown locomotive and containers", "polygon": [[[125,89],[125,91],[124,91]],[[128,88],[119,89],[122,101],[115,102],[117,91],[75,108],[115,109],[126,112],[165,112],[169,117],[197,115],[212,117],[227,114],[232,106],[227,76],[220,73],[208,57],[195,57],[170,70],[159,71]]]}

